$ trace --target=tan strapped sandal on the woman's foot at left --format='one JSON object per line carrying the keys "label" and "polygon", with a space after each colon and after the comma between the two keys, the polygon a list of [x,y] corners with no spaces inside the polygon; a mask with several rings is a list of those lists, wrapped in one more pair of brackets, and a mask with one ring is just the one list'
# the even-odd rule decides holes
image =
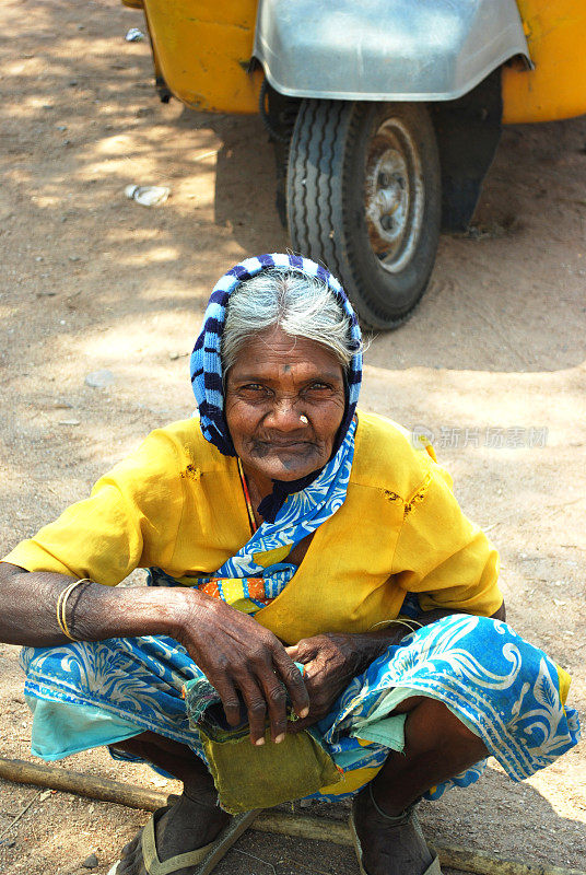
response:
{"label": "tan strapped sandal on the woman's foot at left", "polygon": [[[258,808],[254,812],[245,812],[244,814],[236,815],[209,844],[204,844],[203,848],[197,848],[195,851],[187,851],[186,853],[177,854],[176,856],[171,856],[168,860],[161,861],[156,852],[155,826],[157,819],[162,817],[168,808],[169,806],[159,808],[152,817],[149,818],[142,829],[142,861],[149,875],[173,875],[174,872],[178,872],[188,866],[192,867],[190,875],[209,875],[226,855],[242,833],[250,826],[253,820],[258,817],[261,810]],[[108,875],[116,875],[118,863],[120,863],[119,860],[112,866]]]}

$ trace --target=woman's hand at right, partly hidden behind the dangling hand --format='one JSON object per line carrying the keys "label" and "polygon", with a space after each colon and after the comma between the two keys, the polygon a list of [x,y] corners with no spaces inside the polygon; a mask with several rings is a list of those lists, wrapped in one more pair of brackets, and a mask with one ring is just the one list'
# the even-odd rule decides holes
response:
{"label": "woman's hand at right, partly hidden behind the dangling hand", "polygon": [[309,714],[290,723],[289,731],[298,732],[325,718],[352,678],[392,643],[397,641],[389,640],[388,631],[386,635],[327,632],[285,648],[294,662],[305,666],[303,679],[309,693]]}

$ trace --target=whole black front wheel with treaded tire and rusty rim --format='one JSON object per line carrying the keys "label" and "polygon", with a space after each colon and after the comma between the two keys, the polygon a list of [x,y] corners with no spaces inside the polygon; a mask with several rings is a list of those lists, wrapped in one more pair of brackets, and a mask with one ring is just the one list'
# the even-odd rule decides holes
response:
{"label": "whole black front wheel with treaded tire and rusty rim", "polygon": [[302,102],[289,153],[293,248],[325,264],[370,328],[396,328],[425,291],[442,213],[423,104]]}

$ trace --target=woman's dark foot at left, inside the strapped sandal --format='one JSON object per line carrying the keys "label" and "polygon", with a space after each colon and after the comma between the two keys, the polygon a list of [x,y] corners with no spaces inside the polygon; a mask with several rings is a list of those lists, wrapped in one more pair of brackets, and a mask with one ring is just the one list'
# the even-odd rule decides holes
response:
{"label": "woman's dark foot at left, inside the strapped sandal", "polygon": [[[213,800],[191,800],[184,793],[155,822],[159,859],[164,861],[202,848],[213,841],[228,821],[230,815],[218,807]],[[192,868],[181,868],[174,875],[189,875],[190,871]],[[116,875],[146,875],[141,832],[122,849]]]}

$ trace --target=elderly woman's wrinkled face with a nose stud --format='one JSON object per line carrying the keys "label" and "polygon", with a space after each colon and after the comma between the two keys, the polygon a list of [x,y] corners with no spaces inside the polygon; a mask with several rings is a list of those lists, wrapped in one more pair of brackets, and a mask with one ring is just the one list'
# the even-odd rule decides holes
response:
{"label": "elderly woman's wrinkled face with a nose stud", "polygon": [[228,371],[225,417],[256,488],[297,480],[329,459],[345,407],[342,366],[320,343],[268,328]]}

